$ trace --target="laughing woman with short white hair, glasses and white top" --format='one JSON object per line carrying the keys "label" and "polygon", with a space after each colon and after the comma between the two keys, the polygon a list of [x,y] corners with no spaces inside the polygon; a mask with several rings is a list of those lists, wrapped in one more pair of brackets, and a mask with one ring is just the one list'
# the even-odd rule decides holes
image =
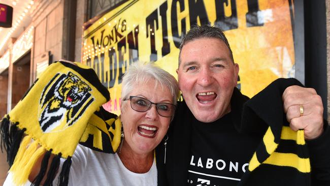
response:
{"label": "laughing woman with short white hair, glasses and white top", "polygon": [[[152,63],[131,65],[122,80],[119,150],[110,154],[78,145],[69,185],[157,185],[154,149],[166,140],[178,94],[177,81],[168,72]],[[10,185],[10,177],[4,185]]]}

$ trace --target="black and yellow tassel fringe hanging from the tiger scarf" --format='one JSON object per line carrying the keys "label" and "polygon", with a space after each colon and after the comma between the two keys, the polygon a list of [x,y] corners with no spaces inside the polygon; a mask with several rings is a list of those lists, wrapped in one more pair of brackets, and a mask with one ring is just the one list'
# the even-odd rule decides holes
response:
{"label": "black and yellow tassel fringe hanging from the tiger scarf", "polygon": [[[12,125],[11,125],[12,124]],[[10,172],[13,173],[13,180],[17,185],[23,185],[28,180],[28,176],[37,160],[43,156],[40,171],[37,177],[32,181],[31,185],[41,185],[42,179],[45,177],[48,168],[48,162],[51,157],[52,149],[46,150],[40,146],[37,141],[34,141],[29,135],[24,132],[26,129],[20,130],[18,122],[12,123],[9,115],[5,115],[1,120],[0,148],[3,152],[7,152],[7,162],[10,166]],[[61,154],[55,155],[51,160],[51,165],[48,170],[47,179],[44,185],[52,185],[53,180],[58,172],[60,165]],[[71,157],[64,161],[62,170],[59,173],[58,185],[68,185],[69,173],[72,164]]]}

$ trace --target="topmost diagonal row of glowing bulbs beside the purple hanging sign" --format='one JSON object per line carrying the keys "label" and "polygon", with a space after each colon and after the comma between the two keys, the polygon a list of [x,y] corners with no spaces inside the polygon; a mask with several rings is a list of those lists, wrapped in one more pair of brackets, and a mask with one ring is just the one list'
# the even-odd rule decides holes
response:
{"label": "topmost diagonal row of glowing bulbs beside the purple hanging sign", "polygon": [[[17,3],[19,2],[19,0],[14,0],[13,1],[13,6],[16,6]],[[13,23],[13,26],[10,28],[9,32],[7,33],[7,35],[5,36],[5,38],[3,39],[3,41],[0,44],[0,51],[4,48],[4,46],[6,45],[6,43],[8,42],[8,40],[11,38],[11,35],[14,33],[14,31],[16,30],[16,28],[20,25],[21,21],[24,19],[24,17],[27,15],[29,9],[31,9],[31,6],[34,5],[34,1],[29,1],[26,5],[25,5],[25,9],[24,11],[18,16],[18,19],[16,19],[16,21]],[[2,30],[0,30],[1,32]]]}

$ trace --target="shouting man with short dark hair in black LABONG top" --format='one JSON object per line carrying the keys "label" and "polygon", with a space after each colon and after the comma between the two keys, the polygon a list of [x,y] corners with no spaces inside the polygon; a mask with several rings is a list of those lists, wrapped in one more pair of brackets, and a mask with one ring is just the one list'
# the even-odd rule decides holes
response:
{"label": "shouting man with short dark hair in black LABONG top", "polygon": [[[248,98],[235,88],[238,72],[239,65],[234,63],[232,50],[220,29],[195,26],[183,38],[177,73],[184,102],[179,103],[164,157],[170,185],[237,185],[246,180],[242,184],[265,185],[269,181],[269,185],[296,185],[300,184],[297,179],[309,179],[308,170],[302,173],[301,169],[296,171],[290,166],[249,167],[251,158],[258,155],[255,150],[260,141],[267,139],[263,137],[267,126],[252,123],[247,130],[242,130],[242,107]],[[288,125],[293,131],[304,129],[305,139],[309,140],[312,183],[328,185],[330,160],[324,158],[324,154],[329,154],[329,135],[323,134],[327,124],[323,127],[320,97],[314,89],[289,86],[282,98]],[[269,108],[272,111],[271,105]],[[304,157],[299,160],[309,161]],[[258,171],[264,170],[276,176],[279,173],[296,177],[285,182],[280,181],[281,177],[265,173],[266,176],[255,181],[253,176],[263,175]]]}

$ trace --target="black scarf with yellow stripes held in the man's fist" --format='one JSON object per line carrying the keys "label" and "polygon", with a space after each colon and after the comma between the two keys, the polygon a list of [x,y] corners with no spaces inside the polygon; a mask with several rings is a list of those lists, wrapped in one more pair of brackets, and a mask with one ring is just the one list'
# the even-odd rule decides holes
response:
{"label": "black scarf with yellow stripes held in the man's fist", "polygon": [[284,89],[294,84],[302,86],[295,79],[278,79],[245,103],[239,131],[253,132],[259,123],[268,127],[239,185],[311,184],[304,131],[289,128],[281,101]]}

